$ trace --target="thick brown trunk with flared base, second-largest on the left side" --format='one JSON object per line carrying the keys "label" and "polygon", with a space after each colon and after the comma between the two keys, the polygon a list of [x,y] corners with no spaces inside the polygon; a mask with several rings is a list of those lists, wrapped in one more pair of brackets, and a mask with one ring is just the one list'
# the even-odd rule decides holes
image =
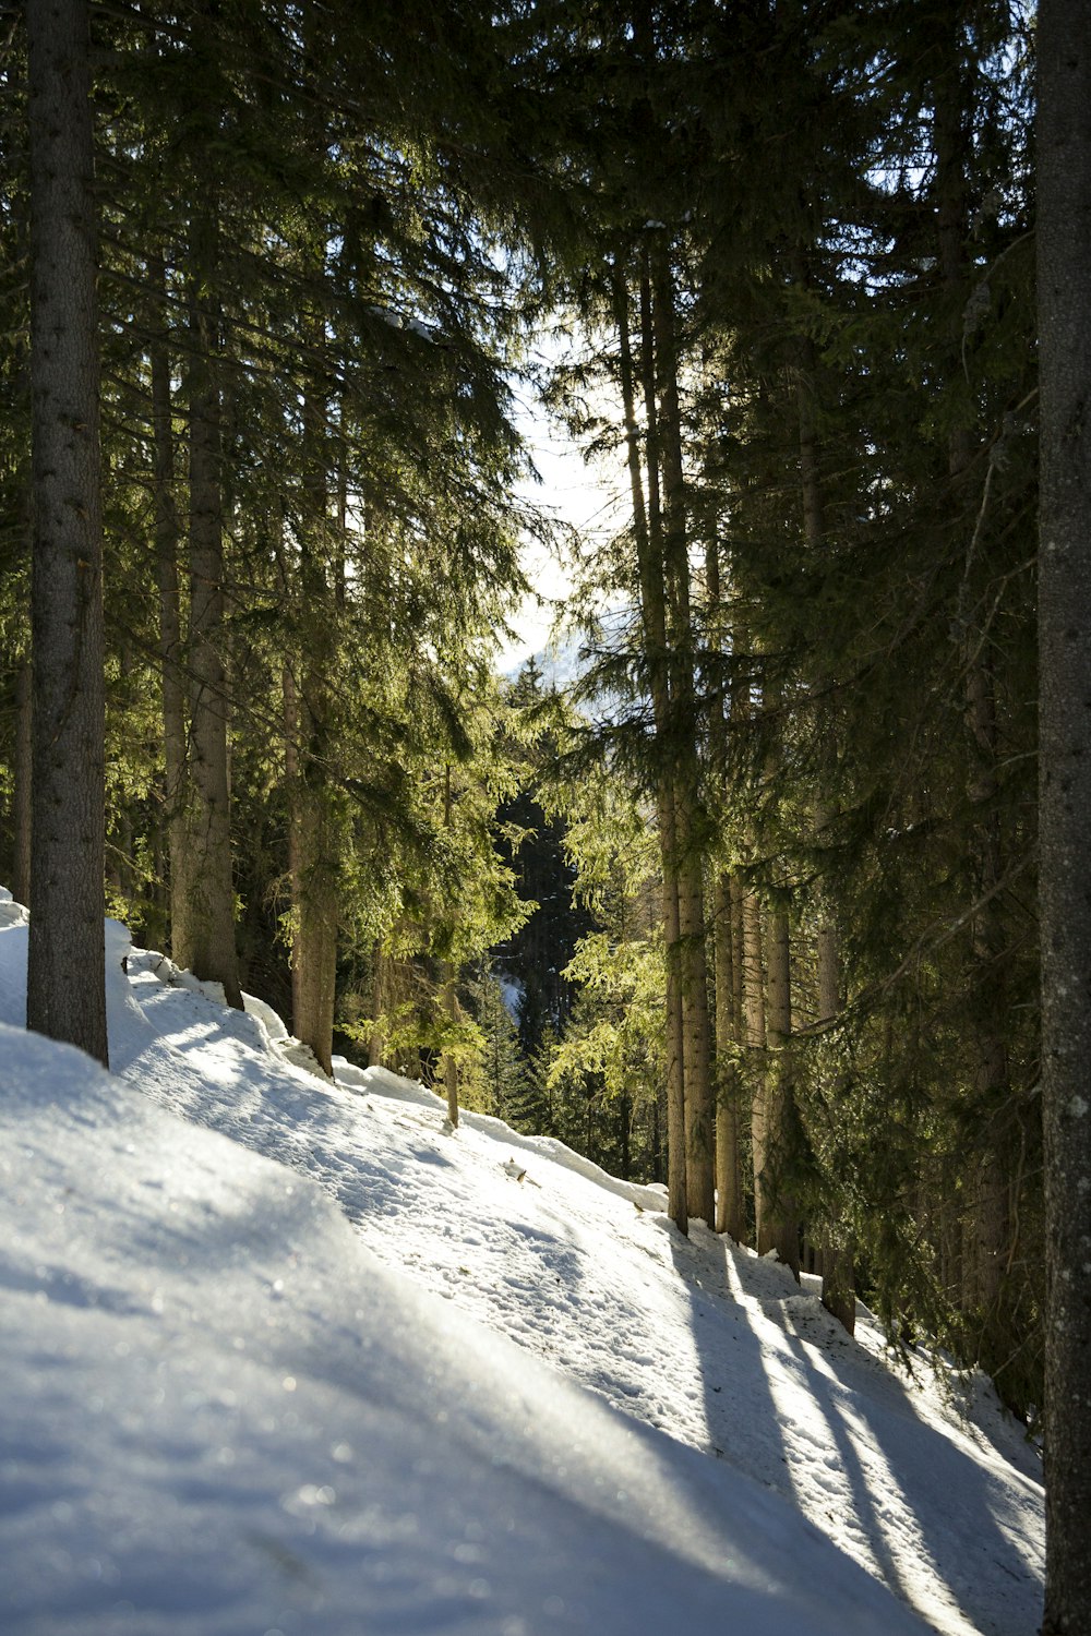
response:
{"label": "thick brown trunk with flared base, second-largest on the left side", "polygon": [[190,738],[185,790],[188,867],[177,905],[172,951],[195,977],[222,983],[242,1006],[234,928],[227,682],[224,643],[224,535],[221,402],[216,370],[218,222],[195,218],[190,244]]}

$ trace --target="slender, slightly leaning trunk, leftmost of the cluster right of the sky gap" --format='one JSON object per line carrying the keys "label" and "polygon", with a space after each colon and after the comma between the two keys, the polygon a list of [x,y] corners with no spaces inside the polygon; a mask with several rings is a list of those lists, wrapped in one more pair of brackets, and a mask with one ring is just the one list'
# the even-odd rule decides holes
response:
{"label": "slender, slightly leaning trunk, leftmost of the cluster right of the sky gap", "polygon": [[659,856],[662,867],[662,928],[667,957],[666,1055],[667,1055],[667,1212],[680,1232],[689,1230],[685,1176],[685,1088],[682,1078],[682,972],[677,890],[677,838],[674,779],[666,761],[664,741],[671,725],[667,677],[667,614],[662,582],[662,545],[659,527],[659,466],[656,456],[654,391],[648,394],[648,489],[641,473],[640,430],[636,425],[636,371],[628,322],[628,291],[622,275],[615,276],[615,319],[618,326],[622,401],[625,412],[625,448],[633,501],[633,533],[641,591],[644,654],[651,687],[651,707],[659,741],[656,772],[656,816],[659,823]]}

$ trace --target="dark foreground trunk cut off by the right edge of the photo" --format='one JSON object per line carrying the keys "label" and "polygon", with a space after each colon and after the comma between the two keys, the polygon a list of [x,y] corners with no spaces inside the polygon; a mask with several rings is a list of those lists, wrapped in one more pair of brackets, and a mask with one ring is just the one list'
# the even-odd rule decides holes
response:
{"label": "dark foreground trunk cut off by the right edge of the photo", "polygon": [[1045,1621],[1091,1629],[1091,10],[1039,7]]}

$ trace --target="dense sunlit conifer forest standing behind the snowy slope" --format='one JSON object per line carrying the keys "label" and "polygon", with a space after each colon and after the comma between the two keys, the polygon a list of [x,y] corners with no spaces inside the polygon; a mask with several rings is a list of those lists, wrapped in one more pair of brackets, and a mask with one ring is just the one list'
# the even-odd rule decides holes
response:
{"label": "dense sunlit conifer forest standing behind the snowy slope", "polygon": [[[92,7],[106,905],[1042,1404],[1032,21]],[[31,144],[0,118],[0,872]],[[543,371],[556,326],[577,362]],[[581,550],[514,388],[626,473]],[[497,674],[520,540],[579,682]]]}

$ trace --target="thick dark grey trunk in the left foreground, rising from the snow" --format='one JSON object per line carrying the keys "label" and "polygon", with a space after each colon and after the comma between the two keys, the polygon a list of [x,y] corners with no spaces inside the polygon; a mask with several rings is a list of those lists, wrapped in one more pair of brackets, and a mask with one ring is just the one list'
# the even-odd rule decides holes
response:
{"label": "thick dark grey trunk in the left foreground, rising from the snow", "polygon": [[33,772],[28,1027],[108,1058],[98,309],[85,0],[28,0]]}

